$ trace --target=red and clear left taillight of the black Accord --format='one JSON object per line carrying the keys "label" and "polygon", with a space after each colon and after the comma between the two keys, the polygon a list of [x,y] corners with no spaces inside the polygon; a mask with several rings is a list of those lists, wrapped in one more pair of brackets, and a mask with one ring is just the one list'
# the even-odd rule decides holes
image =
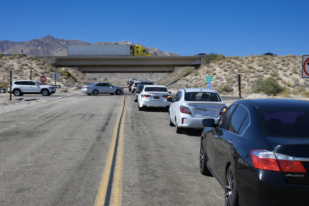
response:
{"label": "red and clear left taillight of the black Accord", "polygon": [[273,170],[282,172],[306,172],[300,161],[293,157],[270,152],[264,149],[250,150],[253,167],[261,170]]}

